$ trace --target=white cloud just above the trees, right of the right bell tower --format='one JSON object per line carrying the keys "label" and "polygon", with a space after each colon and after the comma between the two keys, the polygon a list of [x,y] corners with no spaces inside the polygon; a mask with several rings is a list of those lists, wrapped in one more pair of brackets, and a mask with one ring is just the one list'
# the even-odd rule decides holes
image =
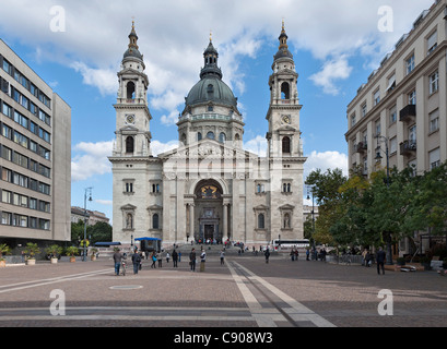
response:
{"label": "white cloud just above the trees, right of the right bell tower", "polygon": [[349,174],[348,170],[348,155],[339,152],[311,152],[307,155],[307,161],[304,164],[304,178],[311,171],[320,169],[326,172],[328,169],[334,170],[339,168],[344,176]]}

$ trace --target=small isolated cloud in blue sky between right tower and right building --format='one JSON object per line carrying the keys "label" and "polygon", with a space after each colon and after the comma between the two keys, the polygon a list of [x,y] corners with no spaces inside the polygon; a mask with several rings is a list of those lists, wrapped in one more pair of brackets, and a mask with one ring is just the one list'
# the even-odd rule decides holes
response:
{"label": "small isolated cloud in blue sky between right tower and right building", "polygon": [[340,91],[336,86],[336,81],[345,80],[351,75],[352,67],[349,65],[345,56],[338,59],[327,61],[322,70],[309,79],[317,85],[322,87],[326,94],[337,96]]}

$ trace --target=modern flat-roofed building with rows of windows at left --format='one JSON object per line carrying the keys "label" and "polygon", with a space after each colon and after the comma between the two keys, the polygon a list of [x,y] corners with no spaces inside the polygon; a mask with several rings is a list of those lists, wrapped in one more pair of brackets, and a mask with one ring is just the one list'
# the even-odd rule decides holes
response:
{"label": "modern flat-roofed building with rows of windows at left", "polygon": [[71,108],[0,39],[0,242],[69,241]]}

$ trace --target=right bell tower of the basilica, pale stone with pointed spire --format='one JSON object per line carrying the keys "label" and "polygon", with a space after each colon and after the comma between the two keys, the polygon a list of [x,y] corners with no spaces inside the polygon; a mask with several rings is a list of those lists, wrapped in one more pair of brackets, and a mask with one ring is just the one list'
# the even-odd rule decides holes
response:
{"label": "right bell tower of the basilica, pale stone with pointed spire", "polygon": [[267,140],[269,156],[302,157],[303,146],[299,131],[299,105],[297,80],[293,55],[289,51],[287,35],[282,23],[280,47],[274,55],[273,73],[269,79],[270,107],[266,119],[269,121]]}

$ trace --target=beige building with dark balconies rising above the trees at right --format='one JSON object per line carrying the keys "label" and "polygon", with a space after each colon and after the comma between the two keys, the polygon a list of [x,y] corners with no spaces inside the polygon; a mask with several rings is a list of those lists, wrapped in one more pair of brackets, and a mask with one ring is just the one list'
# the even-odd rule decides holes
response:
{"label": "beige building with dark balconies rising above the trees at right", "polygon": [[[348,106],[349,167],[423,174],[447,160],[447,1],[435,1]],[[409,251],[401,241],[401,251]]]}

